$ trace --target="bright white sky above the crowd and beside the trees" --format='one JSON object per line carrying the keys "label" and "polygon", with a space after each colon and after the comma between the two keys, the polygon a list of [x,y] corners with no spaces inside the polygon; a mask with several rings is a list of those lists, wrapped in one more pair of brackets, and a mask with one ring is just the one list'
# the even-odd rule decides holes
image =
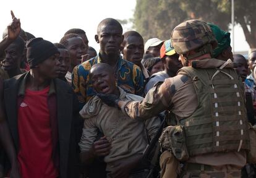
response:
{"label": "bright white sky above the crowd and beside the trees", "polygon": [[[23,30],[53,43],[59,42],[70,28],[82,28],[87,33],[89,46],[96,50],[94,40],[98,23],[108,17],[130,19],[136,0],[12,0],[2,1],[0,35],[11,22],[11,10],[20,18]],[[124,30],[132,30],[124,27]],[[170,32],[171,33],[171,32]],[[232,44],[232,42],[231,42]],[[248,51],[249,46],[241,27],[235,28],[234,51]]]}

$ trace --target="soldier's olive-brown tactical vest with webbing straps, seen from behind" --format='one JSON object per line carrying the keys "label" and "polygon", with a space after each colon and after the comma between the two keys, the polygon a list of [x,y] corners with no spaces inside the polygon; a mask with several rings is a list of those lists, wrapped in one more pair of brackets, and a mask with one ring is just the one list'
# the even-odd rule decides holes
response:
{"label": "soldier's olive-brown tactical vest with webbing straps, seen from behind", "polygon": [[249,150],[244,85],[236,71],[183,67],[179,74],[192,78],[198,98],[194,113],[179,121],[189,155]]}

